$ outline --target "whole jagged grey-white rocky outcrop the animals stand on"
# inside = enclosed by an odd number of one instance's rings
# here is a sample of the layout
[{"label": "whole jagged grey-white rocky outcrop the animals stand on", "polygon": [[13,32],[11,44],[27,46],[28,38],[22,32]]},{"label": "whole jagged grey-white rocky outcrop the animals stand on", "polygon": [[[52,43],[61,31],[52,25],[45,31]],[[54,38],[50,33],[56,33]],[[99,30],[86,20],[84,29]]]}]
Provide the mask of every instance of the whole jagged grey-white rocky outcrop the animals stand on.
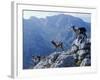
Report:
[{"label": "whole jagged grey-white rocky outcrop the animals stand on", "polygon": [[68,51],[54,52],[41,59],[33,66],[34,69],[57,68],[57,67],[78,67],[91,66],[91,42],[85,39],[80,42],[78,39],[73,41]]}]

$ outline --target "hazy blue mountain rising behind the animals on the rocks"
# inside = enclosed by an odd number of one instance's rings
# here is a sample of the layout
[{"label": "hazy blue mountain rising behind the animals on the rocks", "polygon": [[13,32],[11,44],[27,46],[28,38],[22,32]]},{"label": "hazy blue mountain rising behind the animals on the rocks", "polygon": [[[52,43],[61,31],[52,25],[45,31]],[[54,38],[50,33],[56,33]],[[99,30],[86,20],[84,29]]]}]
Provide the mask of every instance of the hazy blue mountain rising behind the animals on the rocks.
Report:
[{"label": "hazy blue mountain rising behind the animals on the rocks", "polygon": [[64,49],[67,50],[75,38],[70,30],[73,25],[85,27],[90,37],[90,23],[71,15],[60,14],[46,18],[23,19],[23,68],[29,67],[32,55],[47,56],[54,52],[51,40],[62,41]]}]

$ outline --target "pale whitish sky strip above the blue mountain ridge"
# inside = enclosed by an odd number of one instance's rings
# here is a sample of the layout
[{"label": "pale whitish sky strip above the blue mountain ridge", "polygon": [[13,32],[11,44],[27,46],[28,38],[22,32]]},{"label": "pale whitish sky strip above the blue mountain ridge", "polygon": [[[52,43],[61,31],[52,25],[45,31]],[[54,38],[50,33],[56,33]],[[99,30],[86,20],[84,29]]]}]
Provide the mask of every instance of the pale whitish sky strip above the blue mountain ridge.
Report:
[{"label": "pale whitish sky strip above the blue mountain ridge", "polygon": [[46,12],[46,11],[23,11],[24,19],[30,19],[32,16],[37,18],[46,18],[47,16],[54,16],[58,14],[72,15],[74,17],[79,17],[85,22],[91,22],[91,14],[89,13],[60,13],[60,12]]}]

